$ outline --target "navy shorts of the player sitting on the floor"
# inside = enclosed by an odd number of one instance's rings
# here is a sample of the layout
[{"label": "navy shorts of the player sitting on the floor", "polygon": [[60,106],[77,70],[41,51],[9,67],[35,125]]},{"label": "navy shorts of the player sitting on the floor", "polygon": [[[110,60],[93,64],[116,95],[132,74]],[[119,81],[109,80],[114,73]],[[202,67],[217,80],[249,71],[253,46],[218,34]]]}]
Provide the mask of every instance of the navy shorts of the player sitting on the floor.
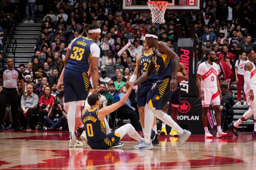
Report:
[{"label": "navy shorts of the player sitting on the floor", "polygon": [[88,140],[87,144],[92,149],[109,149],[112,147],[113,144],[119,141],[120,141],[120,135],[119,134],[115,135],[115,131],[113,131],[109,133],[105,139],[100,140],[98,142],[90,142]]}]

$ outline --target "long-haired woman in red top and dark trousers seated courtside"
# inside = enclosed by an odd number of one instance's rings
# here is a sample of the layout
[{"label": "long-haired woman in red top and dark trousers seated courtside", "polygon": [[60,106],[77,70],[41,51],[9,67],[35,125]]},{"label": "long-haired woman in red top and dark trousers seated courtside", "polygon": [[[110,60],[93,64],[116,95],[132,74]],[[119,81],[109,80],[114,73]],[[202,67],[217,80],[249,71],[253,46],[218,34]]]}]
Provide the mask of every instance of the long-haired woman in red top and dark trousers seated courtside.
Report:
[{"label": "long-haired woman in red top and dark trousers seated courtside", "polygon": [[40,97],[40,101],[39,101],[40,109],[38,111],[38,117],[39,117],[38,130],[42,130],[42,125],[44,123],[43,118],[44,116],[48,115],[50,107],[52,106],[53,98],[54,97],[51,95],[51,88],[49,86],[46,86],[44,88],[44,95]]}]

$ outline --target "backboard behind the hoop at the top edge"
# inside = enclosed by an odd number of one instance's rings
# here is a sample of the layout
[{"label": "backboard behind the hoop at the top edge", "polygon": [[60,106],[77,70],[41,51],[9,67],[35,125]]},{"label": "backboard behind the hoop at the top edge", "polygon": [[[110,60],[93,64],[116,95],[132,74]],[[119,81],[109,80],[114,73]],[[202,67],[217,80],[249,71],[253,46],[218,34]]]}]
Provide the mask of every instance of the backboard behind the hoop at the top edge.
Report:
[{"label": "backboard behind the hoop at the top edge", "polygon": [[[150,11],[147,2],[151,0],[121,0],[121,11]],[[203,9],[203,0],[164,0],[168,1],[167,12],[195,12]]]}]

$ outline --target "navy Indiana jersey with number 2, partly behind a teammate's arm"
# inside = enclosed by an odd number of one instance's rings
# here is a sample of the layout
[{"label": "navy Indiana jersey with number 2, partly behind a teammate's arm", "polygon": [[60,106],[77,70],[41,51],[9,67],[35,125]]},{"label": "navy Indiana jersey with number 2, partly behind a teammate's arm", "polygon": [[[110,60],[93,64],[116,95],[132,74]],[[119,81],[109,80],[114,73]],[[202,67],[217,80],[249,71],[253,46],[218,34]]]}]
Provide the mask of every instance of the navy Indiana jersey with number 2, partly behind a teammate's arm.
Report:
[{"label": "navy Indiana jersey with number 2, partly behind a teammate's arm", "polygon": [[[140,55],[140,76],[147,71],[151,54],[152,53],[146,55],[144,52]],[[152,72],[151,76],[147,80],[148,81],[157,80],[156,69]]]}]

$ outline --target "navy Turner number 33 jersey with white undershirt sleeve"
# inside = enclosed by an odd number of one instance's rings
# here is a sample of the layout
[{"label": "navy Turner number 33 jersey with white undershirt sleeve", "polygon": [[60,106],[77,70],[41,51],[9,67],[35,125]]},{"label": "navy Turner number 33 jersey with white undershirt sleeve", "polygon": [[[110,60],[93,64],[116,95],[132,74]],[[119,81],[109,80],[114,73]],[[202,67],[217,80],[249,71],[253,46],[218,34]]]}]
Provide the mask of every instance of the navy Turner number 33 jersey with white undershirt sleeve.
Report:
[{"label": "navy Turner number 33 jersey with white undershirt sleeve", "polygon": [[75,38],[68,49],[71,50],[66,68],[79,72],[88,72],[92,57],[100,57],[100,48],[92,40],[86,37]]}]

